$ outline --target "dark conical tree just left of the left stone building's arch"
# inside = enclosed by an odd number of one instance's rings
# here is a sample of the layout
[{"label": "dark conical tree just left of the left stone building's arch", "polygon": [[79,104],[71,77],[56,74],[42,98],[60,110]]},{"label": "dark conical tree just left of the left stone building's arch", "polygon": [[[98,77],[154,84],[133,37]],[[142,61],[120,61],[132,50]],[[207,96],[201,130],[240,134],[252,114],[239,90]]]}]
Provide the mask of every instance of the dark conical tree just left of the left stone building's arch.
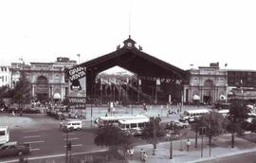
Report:
[{"label": "dark conical tree just left of the left stone building's arch", "polygon": [[27,80],[26,74],[22,72],[13,90],[13,101],[19,103],[19,105],[29,103],[31,99],[30,90],[30,81]]}]

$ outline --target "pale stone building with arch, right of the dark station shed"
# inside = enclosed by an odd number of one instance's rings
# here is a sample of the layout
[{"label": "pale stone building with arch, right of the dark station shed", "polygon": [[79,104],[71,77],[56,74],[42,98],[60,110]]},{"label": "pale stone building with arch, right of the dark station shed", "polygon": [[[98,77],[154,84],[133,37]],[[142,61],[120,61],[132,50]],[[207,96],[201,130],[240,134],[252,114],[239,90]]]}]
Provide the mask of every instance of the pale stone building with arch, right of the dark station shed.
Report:
[{"label": "pale stone building with arch, right of the dark station shed", "polygon": [[220,69],[219,63],[190,69],[189,84],[184,85],[184,101],[212,104],[227,100],[228,72]]}]

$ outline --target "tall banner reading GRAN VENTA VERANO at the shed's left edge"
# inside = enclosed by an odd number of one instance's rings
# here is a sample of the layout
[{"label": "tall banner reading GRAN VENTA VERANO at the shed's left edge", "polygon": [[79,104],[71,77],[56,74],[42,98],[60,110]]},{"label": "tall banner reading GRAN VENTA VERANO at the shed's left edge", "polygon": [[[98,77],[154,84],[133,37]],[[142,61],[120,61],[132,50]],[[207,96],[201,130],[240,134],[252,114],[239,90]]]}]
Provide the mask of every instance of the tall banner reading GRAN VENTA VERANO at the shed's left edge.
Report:
[{"label": "tall banner reading GRAN VENTA VERANO at the shed's left edge", "polygon": [[68,70],[68,102],[75,109],[86,107],[86,67],[78,65]]}]

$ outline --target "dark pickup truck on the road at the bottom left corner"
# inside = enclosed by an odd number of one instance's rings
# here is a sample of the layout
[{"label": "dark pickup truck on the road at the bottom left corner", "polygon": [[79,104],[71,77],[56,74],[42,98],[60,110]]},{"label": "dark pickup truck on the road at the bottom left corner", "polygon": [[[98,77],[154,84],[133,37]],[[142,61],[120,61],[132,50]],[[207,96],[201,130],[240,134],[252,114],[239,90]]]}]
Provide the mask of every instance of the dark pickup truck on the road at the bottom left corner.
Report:
[{"label": "dark pickup truck on the road at the bottom left corner", "polygon": [[29,154],[30,144],[18,144],[16,141],[7,142],[0,146],[0,157],[9,155]]}]

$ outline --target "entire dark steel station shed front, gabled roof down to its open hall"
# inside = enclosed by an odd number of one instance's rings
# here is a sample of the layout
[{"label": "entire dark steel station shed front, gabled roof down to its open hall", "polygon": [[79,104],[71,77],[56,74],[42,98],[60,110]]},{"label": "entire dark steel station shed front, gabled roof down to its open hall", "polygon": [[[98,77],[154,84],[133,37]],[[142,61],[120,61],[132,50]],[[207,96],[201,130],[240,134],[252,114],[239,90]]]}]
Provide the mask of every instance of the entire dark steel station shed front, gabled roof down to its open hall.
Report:
[{"label": "entire dark steel station shed front, gabled roof down to its open hall", "polygon": [[[105,95],[108,97],[106,100],[122,99],[122,102],[129,100],[129,103],[146,101],[166,104],[170,96],[172,102],[180,102],[187,72],[143,52],[142,47],[137,48],[130,37],[123,44],[112,53],[81,64],[86,67],[87,101],[102,101]],[[136,78],[97,79],[99,73],[114,66],[132,72]]]}]

